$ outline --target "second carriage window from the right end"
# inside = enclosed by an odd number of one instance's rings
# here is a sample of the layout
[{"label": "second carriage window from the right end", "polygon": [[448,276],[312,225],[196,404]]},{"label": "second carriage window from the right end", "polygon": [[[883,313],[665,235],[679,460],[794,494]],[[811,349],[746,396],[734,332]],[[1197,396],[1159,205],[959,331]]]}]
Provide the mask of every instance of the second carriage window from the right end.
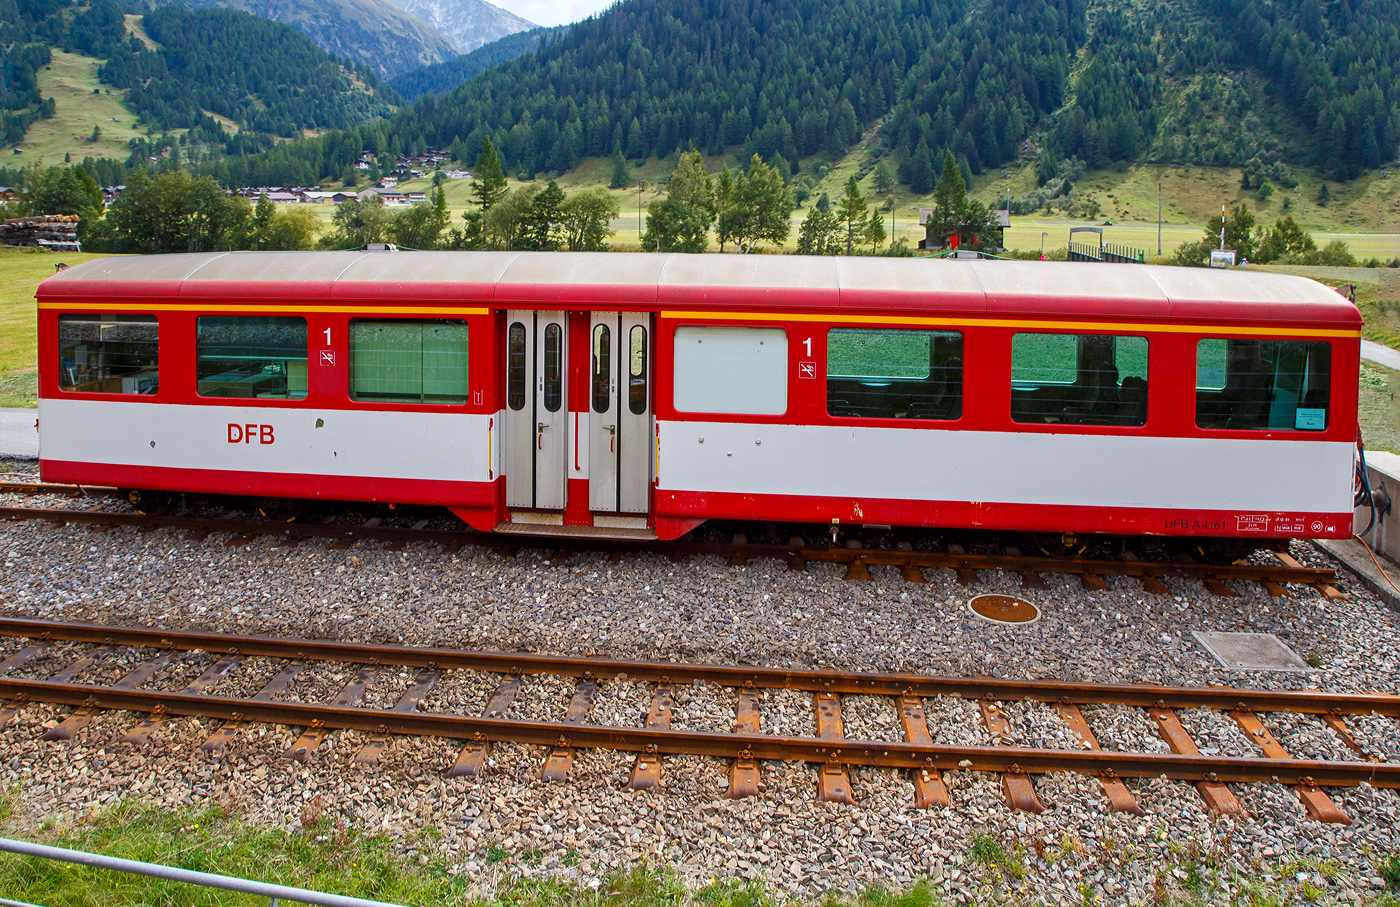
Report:
[{"label": "second carriage window from the right end", "polygon": [[1011,419],[1061,426],[1147,423],[1147,337],[1018,333]]}]

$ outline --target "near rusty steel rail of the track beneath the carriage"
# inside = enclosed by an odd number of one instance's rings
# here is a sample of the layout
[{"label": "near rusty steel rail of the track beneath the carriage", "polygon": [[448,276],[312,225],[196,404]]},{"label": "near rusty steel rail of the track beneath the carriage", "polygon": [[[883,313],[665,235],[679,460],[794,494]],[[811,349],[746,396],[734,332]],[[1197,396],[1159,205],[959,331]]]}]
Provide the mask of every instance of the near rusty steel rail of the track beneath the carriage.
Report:
[{"label": "near rusty steel rail of the track beneath the carriage", "polygon": [[1337,571],[1315,567],[1261,567],[1257,564],[1189,564],[1162,561],[1092,560],[1035,557],[1025,554],[952,554],[945,551],[889,551],[881,549],[809,549],[784,544],[724,544],[717,542],[637,543],[610,539],[521,537],[501,536],[476,529],[413,529],[400,526],[349,526],[333,523],[280,523],[256,519],[207,516],[158,516],[134,512],[48,509],[0,507],[0,519],[42,519],[57,523],[155,526],[199,532],[231,532],[248,536],[286,536],[294,539],[370,539],[381,542],[434,542],[438,544],[473,544],[497,549],[543,547],[564,551],[665,551],[672,556],[713,554],[717,557],[770,557],[788,563],[862,563],[874,565],[911,565],[949,570],[1009,570],[1012,572],[1098,574],[1126,577],[1186,577],[1197,579],[1238,579],[1245,582],[1296,582],[1326,585],[1337,581]]}]

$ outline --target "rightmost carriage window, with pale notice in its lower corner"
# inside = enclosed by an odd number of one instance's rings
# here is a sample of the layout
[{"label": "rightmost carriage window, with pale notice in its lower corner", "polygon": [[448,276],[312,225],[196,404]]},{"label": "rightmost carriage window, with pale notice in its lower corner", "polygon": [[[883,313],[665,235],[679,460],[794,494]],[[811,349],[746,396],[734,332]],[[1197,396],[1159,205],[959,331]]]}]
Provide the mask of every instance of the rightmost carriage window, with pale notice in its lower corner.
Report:
[{"label": "rightmost carriage window, with pale notice in its lower corner", "polygon": [[1201,428],[1323,431],[1330,391],[1326,342],[1219,337],[1196,346]]}]

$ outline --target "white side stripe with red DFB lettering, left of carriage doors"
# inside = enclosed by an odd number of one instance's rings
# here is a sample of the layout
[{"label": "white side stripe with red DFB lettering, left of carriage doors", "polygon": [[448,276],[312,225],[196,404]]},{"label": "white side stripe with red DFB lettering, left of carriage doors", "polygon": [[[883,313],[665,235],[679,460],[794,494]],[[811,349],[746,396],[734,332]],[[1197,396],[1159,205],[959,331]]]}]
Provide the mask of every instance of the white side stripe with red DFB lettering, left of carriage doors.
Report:
[{"label": "white side stripe with red DFB lettering, left of carriage doors", "polygon": [[[493,431],[493,416],[498,431],[498,413],[46,398],[39,400],[39,456],[165,469],[490,481],[493,452],[482,438]],[[493,437],[498,458],[500,435]]]}]

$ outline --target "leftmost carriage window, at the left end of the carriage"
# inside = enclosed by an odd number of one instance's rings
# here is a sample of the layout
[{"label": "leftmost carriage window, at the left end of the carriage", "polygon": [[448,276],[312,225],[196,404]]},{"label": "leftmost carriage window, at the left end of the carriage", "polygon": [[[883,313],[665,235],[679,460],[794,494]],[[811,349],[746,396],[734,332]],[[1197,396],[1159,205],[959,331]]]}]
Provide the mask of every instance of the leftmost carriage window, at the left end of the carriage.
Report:
[{"label": "leftmost carriage window, at the left end of the carriage", "polygon": [[154,315],[59,315],[59,388],[78,393],[155,393]]}]

